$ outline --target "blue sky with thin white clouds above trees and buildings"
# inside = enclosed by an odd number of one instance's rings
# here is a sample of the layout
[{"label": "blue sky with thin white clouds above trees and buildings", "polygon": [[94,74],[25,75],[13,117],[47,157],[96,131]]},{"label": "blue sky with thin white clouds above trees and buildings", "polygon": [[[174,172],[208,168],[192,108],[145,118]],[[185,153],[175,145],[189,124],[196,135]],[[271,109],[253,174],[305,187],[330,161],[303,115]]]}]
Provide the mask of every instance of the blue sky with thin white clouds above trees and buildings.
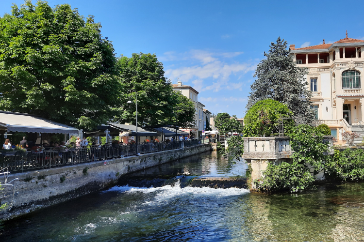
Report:
[{"label": "blue sky with thin white clouds above trees and buildings", "polygon": [[[0,0],[0,15],[23,0]],[[36,1],[33,0],[33,4]],[[212,113],[244,117],[256,65],[279,36],[296,48],[364,39],[360,7],[343,1],[49,0],[94,15],[116,56],[156,53],[165,76],[199,91]],[[352,8],[349,11],[349,8]]]}]

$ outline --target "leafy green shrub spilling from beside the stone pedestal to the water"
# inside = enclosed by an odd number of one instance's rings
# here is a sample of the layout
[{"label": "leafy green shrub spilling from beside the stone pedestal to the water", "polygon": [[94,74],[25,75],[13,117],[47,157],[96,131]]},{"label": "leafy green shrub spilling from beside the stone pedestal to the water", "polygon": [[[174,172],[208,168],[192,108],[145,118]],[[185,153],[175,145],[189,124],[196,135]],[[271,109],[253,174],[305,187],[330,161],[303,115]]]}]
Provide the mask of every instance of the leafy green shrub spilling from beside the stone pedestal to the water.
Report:
[{"label": "leafy green shrub spilling from beside the stone pedestal to the water", "polygon": [[325,161],[330,160],[328,144],[323,143],[322,133],[309,125],[301,124],[291,127],[288,131],[291,149],[291,162],[281,162],[279,165],[269,163],[263,171],[264,178],[254,181],[256,187],[262,191],[289,190],[299,192],[314,188],[314,176],[309,167],[314,168],[314,174],[323,168]]}]

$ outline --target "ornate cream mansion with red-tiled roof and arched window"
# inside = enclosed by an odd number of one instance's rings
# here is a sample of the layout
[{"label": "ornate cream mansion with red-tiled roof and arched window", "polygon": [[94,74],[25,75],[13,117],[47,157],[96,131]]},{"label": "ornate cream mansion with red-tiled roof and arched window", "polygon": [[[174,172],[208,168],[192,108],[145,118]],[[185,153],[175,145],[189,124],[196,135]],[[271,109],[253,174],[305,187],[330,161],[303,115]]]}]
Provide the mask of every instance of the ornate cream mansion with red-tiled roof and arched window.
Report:
[{"label": "ornate cream mansion with red-tiled roof and arched window", "polygon": [[[345,131],[364,127],[364,40],[347,37],[333,44],[295,48],[291,55],[298,67],[307,67],[316,123],[326,123],[339,141]],[[363,132],[364,133],[364,132]]]}]

